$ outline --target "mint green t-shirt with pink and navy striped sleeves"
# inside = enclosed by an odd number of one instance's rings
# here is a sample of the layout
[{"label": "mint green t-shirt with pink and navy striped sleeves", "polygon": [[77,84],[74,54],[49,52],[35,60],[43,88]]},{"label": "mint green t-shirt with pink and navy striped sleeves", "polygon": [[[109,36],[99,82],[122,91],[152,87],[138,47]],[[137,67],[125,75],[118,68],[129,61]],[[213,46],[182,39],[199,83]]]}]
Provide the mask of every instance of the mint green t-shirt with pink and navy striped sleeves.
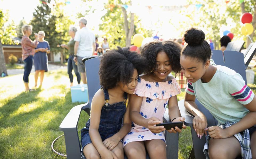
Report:
[{"label": "mint green t-shirt with pink and navy striped sleeves", "polygon": [[[211,64],[215,65],[213,60]],[[188,81],[186,93],[195,95],[219,124],[239,122],[249,112],[243,105],[253,100],[254,93],[240,74],[225,66],[216,66],[217,71],[210,82]]]}]

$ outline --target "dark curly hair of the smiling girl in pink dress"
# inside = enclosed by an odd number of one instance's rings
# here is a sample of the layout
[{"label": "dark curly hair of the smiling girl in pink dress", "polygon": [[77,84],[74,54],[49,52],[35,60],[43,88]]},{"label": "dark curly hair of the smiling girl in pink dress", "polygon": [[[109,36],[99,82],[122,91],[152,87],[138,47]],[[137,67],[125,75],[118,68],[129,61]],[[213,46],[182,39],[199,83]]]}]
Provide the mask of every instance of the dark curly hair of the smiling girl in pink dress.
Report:
[{"label": "dark curly hair of the smiling girl in pink dress", "polygon": [[153,41],[146,44],[141,49],[141,55],[146,58],[148,64],[146,73],[149,74],[152,70],[157,69],[156,58],[157,54],[161,51],[165,52],[170,58],[172,71],[179,73],[181,71],[181,65],[179,64],[179,58],[181,56],[181,46],[174,41]]}]

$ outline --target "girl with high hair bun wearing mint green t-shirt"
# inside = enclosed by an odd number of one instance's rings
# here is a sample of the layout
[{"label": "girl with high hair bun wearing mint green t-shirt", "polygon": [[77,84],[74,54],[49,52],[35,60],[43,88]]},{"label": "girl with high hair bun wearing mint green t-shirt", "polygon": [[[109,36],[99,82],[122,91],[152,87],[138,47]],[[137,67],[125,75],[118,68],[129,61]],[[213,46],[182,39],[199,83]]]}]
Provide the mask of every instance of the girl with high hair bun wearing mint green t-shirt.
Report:
[{"label": "girl with high hair bun wearing mint green t-shirt", "polygon": [[[181,70],[188,80],[185,108],[195,117],[193,128],[201,139],[208,131],[207,158],[256,158],[256,97],[242,76],[215,65],[210,45],[201,30],[186,31],[187,45],[181,53]],[[206,116],[195,98],[218,120],[207,127]]]}]

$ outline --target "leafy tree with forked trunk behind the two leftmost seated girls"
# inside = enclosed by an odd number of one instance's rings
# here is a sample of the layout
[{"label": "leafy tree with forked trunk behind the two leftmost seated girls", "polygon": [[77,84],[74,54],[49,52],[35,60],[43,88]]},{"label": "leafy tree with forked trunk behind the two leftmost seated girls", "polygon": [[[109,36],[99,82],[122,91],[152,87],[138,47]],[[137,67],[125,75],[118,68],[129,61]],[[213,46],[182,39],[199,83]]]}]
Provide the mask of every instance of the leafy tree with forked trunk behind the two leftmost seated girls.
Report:
[{"label": "leafy tree with forked trunk behind the two leftmost seated girls", "polygon": [[[121,0],[109,0],[105,5],[107,12],[101,17],[102,24],[99,28],[105,32],[110,48],[116,46],[129,47],[131,37],[136,33],[143,34],[144,37],[151,36],[149,32],[141,27],[138,16],[134,13],[127,13],[127,10],[122,6],[125,4]],[[131,3],[126,5],[131,5]]]}]

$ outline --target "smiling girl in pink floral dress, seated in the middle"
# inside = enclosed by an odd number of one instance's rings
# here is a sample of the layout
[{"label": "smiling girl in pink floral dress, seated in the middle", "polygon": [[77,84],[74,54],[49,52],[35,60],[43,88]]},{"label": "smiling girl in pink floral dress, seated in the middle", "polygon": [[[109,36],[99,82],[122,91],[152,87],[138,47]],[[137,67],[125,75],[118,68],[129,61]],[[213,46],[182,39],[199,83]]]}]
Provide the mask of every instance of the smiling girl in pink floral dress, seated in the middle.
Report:
[{"label": "smiling girl in pink floral dress, seated in the middle", "polygon": [[[141,55],[148,64],[146,74],[138,77],[138,85],[131,94],[130,118],[133,121],[130,132],[123,139],[128,158],[166,158],[166,143],[163,115],[169,107],[172,122],[184,121],[181,117],[176,95],[181,93],[176,79],[169,75],[180,72],[181,46],[173,41],[154,41],[146,44]],[[183,128],[186,128],[183,125]],[[168,130],[181,132],[178,127]]]}]

